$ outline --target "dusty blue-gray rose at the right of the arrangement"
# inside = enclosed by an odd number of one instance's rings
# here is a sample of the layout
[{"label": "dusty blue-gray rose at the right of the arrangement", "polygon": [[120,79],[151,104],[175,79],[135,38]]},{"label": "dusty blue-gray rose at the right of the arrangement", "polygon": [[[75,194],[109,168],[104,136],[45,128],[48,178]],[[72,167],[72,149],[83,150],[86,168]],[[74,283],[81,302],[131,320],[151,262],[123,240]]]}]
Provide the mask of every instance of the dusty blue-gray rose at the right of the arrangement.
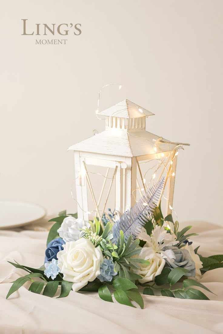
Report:
[{"label": "dusty blue-gray rose at the right of the arrangement", "polygon": [[173,259],[172,262],[169,259],[165,259],[167,266],[170,268],[181,267],[188,269],[190,271],[186,273],[185,276],[195,277],[196,274],[195,262],[192,259],[190,253],[187,251],[187,249],[180,249],[175,246],[166,246],[163,248],[163,251],[166,251],[167,249],[171,249],[176,257],[176,259]]}]

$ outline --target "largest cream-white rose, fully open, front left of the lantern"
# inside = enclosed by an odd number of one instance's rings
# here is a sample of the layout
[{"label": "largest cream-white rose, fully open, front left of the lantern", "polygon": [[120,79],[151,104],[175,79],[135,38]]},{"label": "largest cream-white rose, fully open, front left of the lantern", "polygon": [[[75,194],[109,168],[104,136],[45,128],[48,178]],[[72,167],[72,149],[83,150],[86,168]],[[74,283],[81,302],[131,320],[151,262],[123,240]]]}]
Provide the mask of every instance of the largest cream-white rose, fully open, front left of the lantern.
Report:
[{"label": "largest cream-white rose, fully open, front left of the lantern", "polygon": [[74,282],[74,291],[80,290],[100,275],[103,255],[101,249],[95,248],[89,239],[66,242],[64,251],[58,252],[57,257],[64,280]]}]

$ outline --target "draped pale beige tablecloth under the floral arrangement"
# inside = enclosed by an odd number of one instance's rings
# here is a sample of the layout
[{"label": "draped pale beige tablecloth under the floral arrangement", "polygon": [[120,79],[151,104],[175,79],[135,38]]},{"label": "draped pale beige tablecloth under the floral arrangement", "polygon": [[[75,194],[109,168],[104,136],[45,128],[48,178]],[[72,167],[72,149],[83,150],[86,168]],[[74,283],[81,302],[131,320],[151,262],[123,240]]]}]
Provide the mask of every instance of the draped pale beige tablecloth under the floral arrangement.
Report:
[{"label": "draped pale beige tablecloth under the floral arrangement", "polygon": [[[186,224],[182,224],[181,227]],[[194,225],[194,247],[203,256],[223,254],[223,228],[205,222]],[[25,274],[6,261],[40,267],[47,232],[0,231],[0,333],[223,333],[223,268],[207,272],[201,279],[216,295],[210,301],[143,296],[145,309],[108,303],[97,294],[75,293],[55,299],[31,293],[29,284],[5,299],[10,282]]]}]

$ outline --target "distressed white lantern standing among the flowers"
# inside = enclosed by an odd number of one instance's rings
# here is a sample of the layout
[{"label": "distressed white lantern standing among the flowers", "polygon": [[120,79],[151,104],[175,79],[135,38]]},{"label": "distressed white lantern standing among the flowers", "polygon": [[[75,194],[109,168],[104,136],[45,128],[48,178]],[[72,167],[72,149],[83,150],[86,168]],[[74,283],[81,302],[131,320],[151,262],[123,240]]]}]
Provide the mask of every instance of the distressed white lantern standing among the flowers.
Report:
[{"label": "distressed white lantern standing among the flowers", "polygon": [[[146,118],[151,115],[154,114],[124,100],[98,114],[106,117],[105,131],[69,148],[75,154],[79,218],[88,221],[90,212],[100,220],[103,213],[108,216],[107,205],[112,207],[111,196],[113,207],[123,214],[161,176],[165,176],[166,214],[172,212],[177,155],[183,145],[189,144],[171,142],[146,131]],[[90,178],[90,166],[106,168],[98,199]],[[106,184],[108,189],[105,191]],[[103,192],[106,196],[102,201]],[[89,207],[89,196],[94,208]]]}]

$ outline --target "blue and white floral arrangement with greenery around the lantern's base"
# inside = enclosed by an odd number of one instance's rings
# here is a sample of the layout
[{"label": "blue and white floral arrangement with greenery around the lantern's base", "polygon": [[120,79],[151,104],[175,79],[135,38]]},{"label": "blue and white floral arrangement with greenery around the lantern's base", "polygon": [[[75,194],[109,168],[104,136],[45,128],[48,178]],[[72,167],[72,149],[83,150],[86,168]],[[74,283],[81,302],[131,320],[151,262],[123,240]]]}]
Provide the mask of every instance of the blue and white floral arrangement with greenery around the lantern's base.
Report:
[{"label": "blue and white floral arrangement with greenery around the lantern's base", "polygon": [[154,292],[208,300],[196,287],[211,291],[198,280],[204,272],[223,267],[223,255],[202,257],[199,247],[194,249],[189,241],[197,235],[187,234],[192,226],[179,230],[172,215],[163,217],[158,205],[163,186],[161,179],[117,221],[111,210],[110,219],[104,216],[101,223],[97,218],[85,222],[77,214],[60,212],[50,220],[54,224],[44,265],[35,269],[10,262],[28,274],[13,282],[6,298],[29,281],[29,291],[48,297],[57,292],[57,298],[66,297],[71,290],[98,291],[105,301],[114,298],[131,307],[134,301],[143,308],[142,295]]}]

